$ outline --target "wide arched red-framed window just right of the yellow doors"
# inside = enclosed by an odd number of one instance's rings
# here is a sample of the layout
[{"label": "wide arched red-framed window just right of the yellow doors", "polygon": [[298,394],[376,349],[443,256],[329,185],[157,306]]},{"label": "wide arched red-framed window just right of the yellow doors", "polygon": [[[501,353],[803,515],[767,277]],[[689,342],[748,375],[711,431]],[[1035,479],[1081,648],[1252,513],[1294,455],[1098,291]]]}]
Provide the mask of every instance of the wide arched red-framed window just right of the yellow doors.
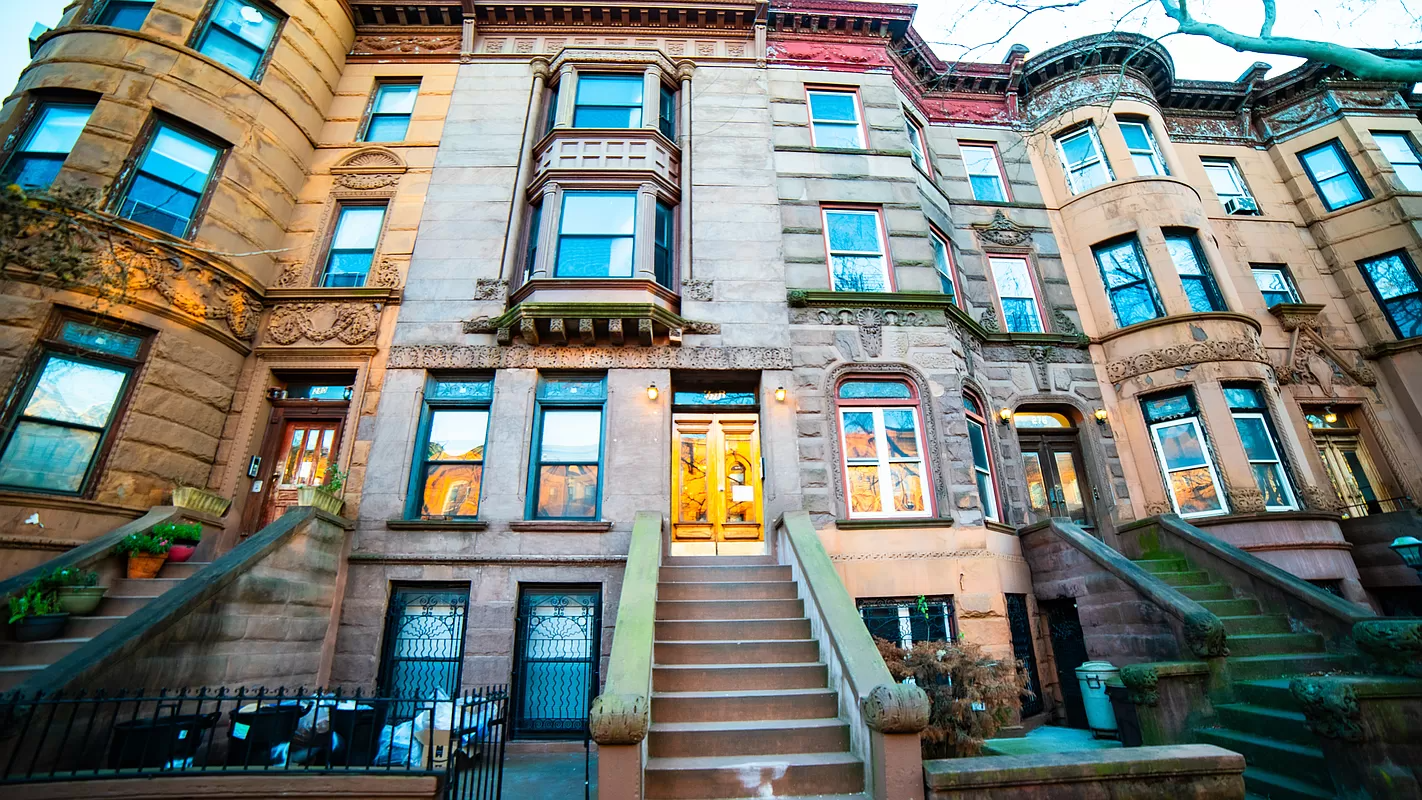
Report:
[{"label": "wide arched red-framed window just right of the yellow doors", "polygon": [[904,381],[849,379],[838,398],[850,519],[931,516],[917,392]]}]

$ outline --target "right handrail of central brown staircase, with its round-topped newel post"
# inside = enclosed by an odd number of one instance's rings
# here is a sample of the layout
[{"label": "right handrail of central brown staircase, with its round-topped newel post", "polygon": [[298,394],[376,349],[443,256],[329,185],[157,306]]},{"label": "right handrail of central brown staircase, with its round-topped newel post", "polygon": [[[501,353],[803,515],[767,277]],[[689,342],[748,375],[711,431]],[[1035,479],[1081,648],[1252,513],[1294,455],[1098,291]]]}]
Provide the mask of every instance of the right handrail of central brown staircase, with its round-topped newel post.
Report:
[{"label": "right handrail of central brown staircase, with its round-topped newel post", "polygon": [[786,512],[775,531],[778,560],[795,575],[830,688],[839,689],[849,718],[850,747],[865,759],[870,794],[921,797],[919,732],[929,725],[929,696],[889,674],[809,514]]}]

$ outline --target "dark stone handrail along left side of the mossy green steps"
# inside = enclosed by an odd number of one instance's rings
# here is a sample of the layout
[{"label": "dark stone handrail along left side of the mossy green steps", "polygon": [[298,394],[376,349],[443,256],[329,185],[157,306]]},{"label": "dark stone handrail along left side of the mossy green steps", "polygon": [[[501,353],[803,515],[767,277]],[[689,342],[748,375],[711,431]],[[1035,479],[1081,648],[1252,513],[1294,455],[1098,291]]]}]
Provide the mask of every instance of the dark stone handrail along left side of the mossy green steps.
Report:
[{"label": "dark stone handrail along left side of the mossy green steps", "polygon": [[1199,602],[1190,600],[1177,588],[1143,567],[1112,550],[1106,543],[1091,536],[1079,526],[1065,520],[1049,520],[1027,526],[1018,536],[1047,530],[1086,556],[1103,570],[1135,590],[1140,597],[1180,622],[1185,644],[1197,658],[1220,658],[1229,655],[1224,638],[1224,622]]}]

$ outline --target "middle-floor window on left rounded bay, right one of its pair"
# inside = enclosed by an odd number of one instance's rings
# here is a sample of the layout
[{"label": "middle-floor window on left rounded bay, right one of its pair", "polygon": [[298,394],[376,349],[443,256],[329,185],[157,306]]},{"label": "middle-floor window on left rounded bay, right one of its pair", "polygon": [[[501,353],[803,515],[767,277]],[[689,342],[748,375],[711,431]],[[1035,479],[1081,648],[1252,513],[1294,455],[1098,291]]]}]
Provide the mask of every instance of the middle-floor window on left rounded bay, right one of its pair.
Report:
[{"label": "middle-floor window on left rounded bay, right one of its pair", "polygon": [[154,128],[118,216],[186,239],[222,151],[168,124]]}]

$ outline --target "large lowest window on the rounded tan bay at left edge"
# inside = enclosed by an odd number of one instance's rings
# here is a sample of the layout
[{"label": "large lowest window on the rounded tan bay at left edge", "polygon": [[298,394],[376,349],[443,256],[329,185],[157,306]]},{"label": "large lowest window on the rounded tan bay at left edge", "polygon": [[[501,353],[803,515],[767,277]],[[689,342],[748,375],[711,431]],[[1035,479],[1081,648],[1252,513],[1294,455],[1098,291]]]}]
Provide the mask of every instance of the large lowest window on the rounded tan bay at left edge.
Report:
[{"label": "large lowest window on the rounded tan bay at left edge", "polygon": [[61,317],[20,379],[0,449],[0,486],[81,494],[142,362],[146,337],[91,315]]}]

